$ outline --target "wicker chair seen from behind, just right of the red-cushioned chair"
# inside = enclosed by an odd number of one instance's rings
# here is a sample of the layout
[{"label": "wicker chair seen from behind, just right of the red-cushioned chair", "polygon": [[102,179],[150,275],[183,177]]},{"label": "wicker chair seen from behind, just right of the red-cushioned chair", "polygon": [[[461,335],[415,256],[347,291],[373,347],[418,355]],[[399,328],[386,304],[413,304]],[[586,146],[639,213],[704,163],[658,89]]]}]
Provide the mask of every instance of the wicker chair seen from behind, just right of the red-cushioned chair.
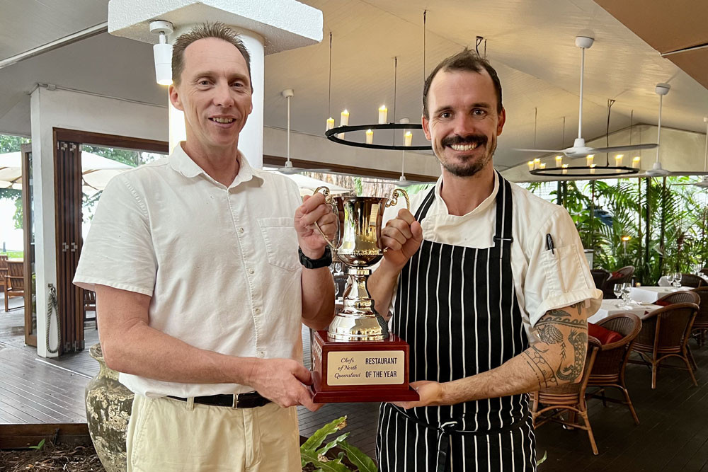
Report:
[{"label": "wicker chair seen from behind, just right of the red-cushioned chair", "polygon": [[[688,338],[698,310],[698,305],[695,303],[676,303],[652,311],[642,321],[641,330],[634,340],[632,350],[638,353],[644,362],[636,360],[629,362],[651,364],[651,388],[656,388],[658,365],[668,357],[678,357],[683,360],[693,384],[698,386],[687,350]],[[675,368],[681,369],[681,367]]]}]

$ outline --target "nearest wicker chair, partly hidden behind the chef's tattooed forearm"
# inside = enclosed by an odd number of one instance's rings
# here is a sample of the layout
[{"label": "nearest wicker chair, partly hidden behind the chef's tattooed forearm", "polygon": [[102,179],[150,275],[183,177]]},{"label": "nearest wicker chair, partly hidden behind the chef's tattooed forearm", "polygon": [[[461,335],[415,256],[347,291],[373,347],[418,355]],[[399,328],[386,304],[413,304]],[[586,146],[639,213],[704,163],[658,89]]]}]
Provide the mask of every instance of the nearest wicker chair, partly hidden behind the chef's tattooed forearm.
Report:
[{"label": "nearest wicker chair, partly hidden behind the chef's tattooed forearm", "polygon": [[[585,393],[588,388],[588,379],[590,372],[593,370],[595,357],[600,350],[600,341],[588,336],[588,355],[585,362],[585,370],[583,376],[576,384],[564,384],[557,387],[544,388],[541,391],[531,392],[531,418],[533,419],[534,427],[544,425],[549,421],[561,423],[569,427],[577,427],[588,432],[590,439],[590,447],[593,448],[593,454],[598,455],[598,445],[595,444],[593,436],[593,428],[590,427],[588,420],[588,405],[585,401]],[[539,409],[540,408],[540,409]],[[568,421],[564,420],[561,414],[564,410],[571,412]],[[544,413],[549,413],[544,415]],[[573,418],[580,415],[582,422],[574,422]]]}]

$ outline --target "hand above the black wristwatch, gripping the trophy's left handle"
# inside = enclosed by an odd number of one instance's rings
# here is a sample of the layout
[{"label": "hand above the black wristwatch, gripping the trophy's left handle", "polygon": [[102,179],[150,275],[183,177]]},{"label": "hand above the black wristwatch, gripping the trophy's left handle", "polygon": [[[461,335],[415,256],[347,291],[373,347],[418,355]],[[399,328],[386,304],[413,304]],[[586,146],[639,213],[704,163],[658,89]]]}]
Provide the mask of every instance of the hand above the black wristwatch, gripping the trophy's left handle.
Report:
[{"label": "hand above the black wristwatch, gripping the trophy's left handle", "polygon": [[319,234],[314,223],[330,241],[336,236],[337,221],[331,205],[324,202],[324,195],[316,193],[305,196],[302,205],[295,211],[295,231],[302,253],[311,259],[319,259],[324,254],[327,241]]}]

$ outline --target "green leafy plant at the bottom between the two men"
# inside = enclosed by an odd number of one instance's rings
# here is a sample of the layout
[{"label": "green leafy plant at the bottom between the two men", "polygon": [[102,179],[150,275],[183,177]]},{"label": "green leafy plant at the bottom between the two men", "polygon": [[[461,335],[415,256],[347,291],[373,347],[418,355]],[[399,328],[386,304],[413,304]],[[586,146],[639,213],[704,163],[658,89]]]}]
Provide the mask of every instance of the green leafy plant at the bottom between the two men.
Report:
[{"label": "green leafy plant at the bottom between the two men", "polygon": [[[357,447],[345,441],[349,436],[348,432],[340,434],[338,437],[322,446],[322,443],[328,436],[342,430],[346,425],[347,417],[342,416],[341,418],[327,423],[319,430],[316,430],[314,434],[300,446],[302,466],[312,464],[316,467],[316,472],[350,472],[352,470],[358,470],[359,472],[378,472],[379,469],[373,459],[364,454]],[[338,447],[342,449],[342,451],[335,459],[329,459],[325,454],[334,447]],[[343,464],[342,460],[345,455],[348,461],[355,466],[355,469],[349,468],[346,464]]]}]

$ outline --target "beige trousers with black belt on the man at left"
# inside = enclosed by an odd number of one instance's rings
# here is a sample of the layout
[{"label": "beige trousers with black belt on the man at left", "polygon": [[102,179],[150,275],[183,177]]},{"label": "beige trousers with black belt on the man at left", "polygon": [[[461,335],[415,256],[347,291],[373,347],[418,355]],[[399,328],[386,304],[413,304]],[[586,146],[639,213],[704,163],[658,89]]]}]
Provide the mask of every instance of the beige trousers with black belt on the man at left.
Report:
[{"label": "beige trousers with black belt on the man at left", "polygon": [[302,471],[297,409],[275,403],[235,409],[135,396],[127,472],[232,471]]}]

